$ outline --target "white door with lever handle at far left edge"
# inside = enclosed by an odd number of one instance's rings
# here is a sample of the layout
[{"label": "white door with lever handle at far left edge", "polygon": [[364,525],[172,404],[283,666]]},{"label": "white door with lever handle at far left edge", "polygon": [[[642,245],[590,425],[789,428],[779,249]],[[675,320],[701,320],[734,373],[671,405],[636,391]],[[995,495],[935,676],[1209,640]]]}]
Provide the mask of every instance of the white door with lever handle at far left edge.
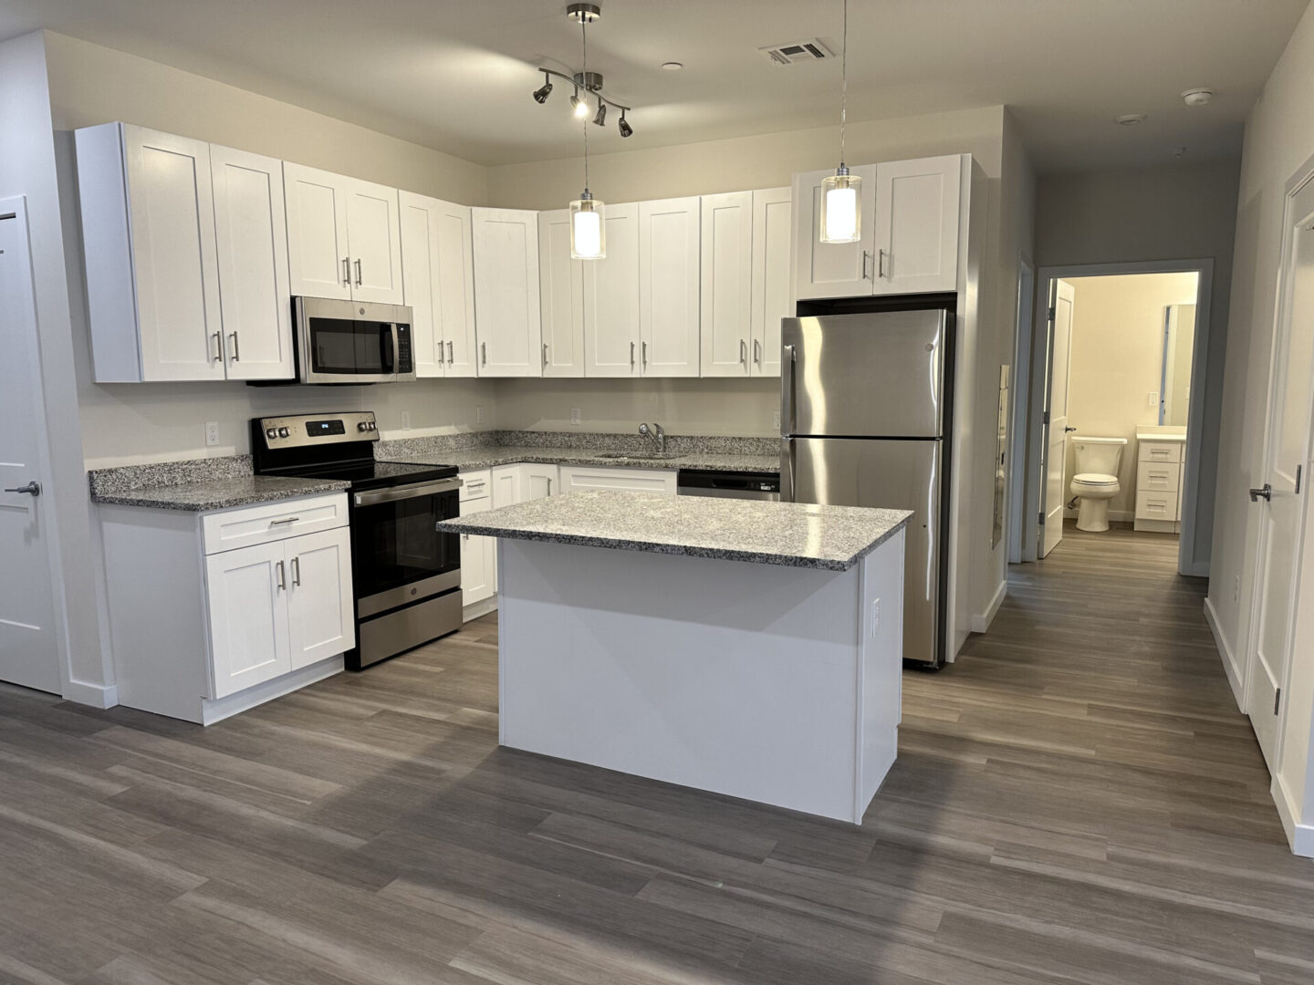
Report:
[{"label": "white door with lever handle at far left edge", "polygon": [[54,586],[38,441],[37,315],[21,200],[0,201],[0,680],[59,693]]}]

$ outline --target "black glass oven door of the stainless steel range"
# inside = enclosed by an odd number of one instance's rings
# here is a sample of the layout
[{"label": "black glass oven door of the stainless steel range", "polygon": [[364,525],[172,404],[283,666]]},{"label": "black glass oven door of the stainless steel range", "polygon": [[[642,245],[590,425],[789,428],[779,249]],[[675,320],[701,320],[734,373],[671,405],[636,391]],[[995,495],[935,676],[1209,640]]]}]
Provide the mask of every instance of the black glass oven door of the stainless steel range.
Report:
[{"label": "black glass oven door of the stainless steel range", "polygon": [[453,477],[352,495],[357,619],[460,587],[460,536],[435,529],[460,514],[460,485]]}]

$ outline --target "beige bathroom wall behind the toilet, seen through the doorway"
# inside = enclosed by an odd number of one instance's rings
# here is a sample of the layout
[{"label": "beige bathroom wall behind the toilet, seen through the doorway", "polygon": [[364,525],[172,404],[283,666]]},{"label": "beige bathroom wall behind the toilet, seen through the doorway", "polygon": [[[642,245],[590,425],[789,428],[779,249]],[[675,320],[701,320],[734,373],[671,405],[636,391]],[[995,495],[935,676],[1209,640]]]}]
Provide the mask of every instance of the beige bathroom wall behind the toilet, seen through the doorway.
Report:
[{"label": "beige bathroom wall behind the toilet, seen through the doorway", "polygon": [[[1125,437],[1118,482],[1109,503],[1116,520],[1135,514],[1137,428],[1159,423],[1163,319],[1168,305],[1196,301],[1194,273],[1138,273],[1121,277],[1068,277],[1072,285],[1072,348],[1068,368],[1068,424],[1076,435]],[[1063,495],[1076,473],[1068,443]]]}]

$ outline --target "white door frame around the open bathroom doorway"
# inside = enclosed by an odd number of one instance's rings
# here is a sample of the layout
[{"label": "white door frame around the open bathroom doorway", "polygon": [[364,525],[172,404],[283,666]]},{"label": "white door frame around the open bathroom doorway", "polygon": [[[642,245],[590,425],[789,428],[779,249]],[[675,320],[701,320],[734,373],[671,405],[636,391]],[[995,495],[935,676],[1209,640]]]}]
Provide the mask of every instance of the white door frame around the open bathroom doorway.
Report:
[{"label": "white door frame around the open bathroom doorway", "polygon": [[[1196,285],[1196,340],[1190,353],[1190,391],[1204,393],[1209,377],[1209,335],[1213,322],[1210,299],[1214,286],[1214,261],[1209,257],[1196,260],[1131,260],[1110,264],[1064,264],[1041,267],[1035,277],[1035,297],[1049,298],[1056,280],[1080,277],[1109,277],[1127,273],[1194,273]],[[1037,303],[1033,323],[1030,401],[1028,406],[1026,461],[1022,464],[1025,483],[1025,506],[1022,511],[1022,550],[1024,561],[1037,559],[1037,537],[1039,536],[1041,489],[1033,468],[1041,461],[1042,418],[1045,415],[1045,352],[1049,340],[1049,305]],[[1037,356],[1039,352],[1039,356]],[[1037,372],[1039,380],[1037,381]],[[1039,398],[1039,399],[1037,399]],[[1194,563],[1196,553],[1196,503],[1200,495],[1200,443],[1202,439],[1205,402],[1192,401],[1187,412],[1187,470],[1183,478],[1181,535],[1177,542],[1177,573],[1206,578],[1208,563]]]}]

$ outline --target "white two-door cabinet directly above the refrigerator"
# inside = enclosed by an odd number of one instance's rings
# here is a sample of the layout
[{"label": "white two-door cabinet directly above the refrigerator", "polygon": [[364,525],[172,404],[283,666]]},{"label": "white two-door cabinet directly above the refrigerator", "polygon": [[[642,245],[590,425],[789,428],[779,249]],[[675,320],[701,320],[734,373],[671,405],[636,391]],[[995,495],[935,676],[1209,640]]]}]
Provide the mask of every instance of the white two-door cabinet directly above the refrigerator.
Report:
[{"label": "white two-door cabinet directly above the refrigerator", "polygon": [[918,294],[958,289],[962,184],[970,158],[865,164],[862,238],[821,243],[821,183],[832,169],[794,176],[794,280],[798,297]]}]

